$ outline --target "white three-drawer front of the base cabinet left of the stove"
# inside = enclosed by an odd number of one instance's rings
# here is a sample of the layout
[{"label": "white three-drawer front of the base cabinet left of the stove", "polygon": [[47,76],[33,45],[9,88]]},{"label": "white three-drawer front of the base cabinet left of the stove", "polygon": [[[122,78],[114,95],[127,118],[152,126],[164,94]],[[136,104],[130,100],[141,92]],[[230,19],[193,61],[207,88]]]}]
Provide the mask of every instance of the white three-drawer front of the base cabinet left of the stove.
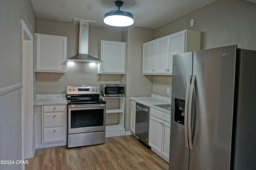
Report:
[{"label": "white three-drawer front of the base cabinet left of the stove", "polygon": [[65,142],[66,105],[42,106],[42,144]]}]

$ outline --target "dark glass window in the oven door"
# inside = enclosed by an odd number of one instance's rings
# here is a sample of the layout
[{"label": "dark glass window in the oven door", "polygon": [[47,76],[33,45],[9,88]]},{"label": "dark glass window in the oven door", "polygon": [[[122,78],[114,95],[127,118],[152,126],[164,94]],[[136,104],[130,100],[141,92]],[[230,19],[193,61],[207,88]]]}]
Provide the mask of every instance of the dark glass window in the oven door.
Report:
[{"label": "dark glass window in the oven door", "polygon": [[71,110],[71,128],[104,126],[104,109]]}]

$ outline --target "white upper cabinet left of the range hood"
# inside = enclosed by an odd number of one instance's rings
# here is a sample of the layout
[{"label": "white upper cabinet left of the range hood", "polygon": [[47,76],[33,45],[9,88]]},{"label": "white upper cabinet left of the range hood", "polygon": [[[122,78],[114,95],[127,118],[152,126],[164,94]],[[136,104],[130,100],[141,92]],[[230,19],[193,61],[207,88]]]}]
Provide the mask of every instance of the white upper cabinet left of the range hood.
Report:
[{"label": "white upper cabinet left of the range hood", "polygon": [[67,37],[35,34],[35,71],[66,72]]}]

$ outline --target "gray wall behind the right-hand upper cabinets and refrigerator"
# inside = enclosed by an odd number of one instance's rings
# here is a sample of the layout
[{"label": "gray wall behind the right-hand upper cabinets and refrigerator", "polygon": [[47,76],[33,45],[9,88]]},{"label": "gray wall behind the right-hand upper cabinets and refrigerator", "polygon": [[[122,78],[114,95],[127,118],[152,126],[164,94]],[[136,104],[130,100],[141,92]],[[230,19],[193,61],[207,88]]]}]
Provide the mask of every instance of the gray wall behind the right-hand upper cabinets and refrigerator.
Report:
[{"label": "gray wall behind the right-hand upper cabinets and refrigerator", "polygon": [[[192,27],[191,19],[194,19]],[[217,0],[156,28],[154,39],[185,29],[198,30],[201,31],[201,50],[233,44],[256,50],[255,21],[256,4],[244,0]],[[154,77],[153,93],[166,96],[166,88],[171,87],[171,82],[171,76]]]}]

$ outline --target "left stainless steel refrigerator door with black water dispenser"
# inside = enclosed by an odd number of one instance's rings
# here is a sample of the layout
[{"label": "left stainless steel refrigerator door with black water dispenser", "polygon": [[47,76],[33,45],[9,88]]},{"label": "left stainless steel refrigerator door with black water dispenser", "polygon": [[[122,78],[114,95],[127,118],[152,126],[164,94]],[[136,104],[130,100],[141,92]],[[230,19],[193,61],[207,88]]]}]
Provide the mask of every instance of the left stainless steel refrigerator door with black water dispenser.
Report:
[{"label": "left stainless steel refrigerator door with black water dispenser", "polygon": [[[184,122],[184,101],[188,77],[192,74],[193,52],[178,54],[173,56],[172,68],[172,114],[171,114],[171,133],[170,133],[170,160],[169,170],[188,170],[189,149],[186,147],[184,125],[182,121],[174,121],[174,116]],[[176,100],[175,100],[176,99]],[[175,104],[175,102],[178,102]],[[185,101],[186,102],[186,101]],[[180,123],[178,123],[180,122]]]}]

